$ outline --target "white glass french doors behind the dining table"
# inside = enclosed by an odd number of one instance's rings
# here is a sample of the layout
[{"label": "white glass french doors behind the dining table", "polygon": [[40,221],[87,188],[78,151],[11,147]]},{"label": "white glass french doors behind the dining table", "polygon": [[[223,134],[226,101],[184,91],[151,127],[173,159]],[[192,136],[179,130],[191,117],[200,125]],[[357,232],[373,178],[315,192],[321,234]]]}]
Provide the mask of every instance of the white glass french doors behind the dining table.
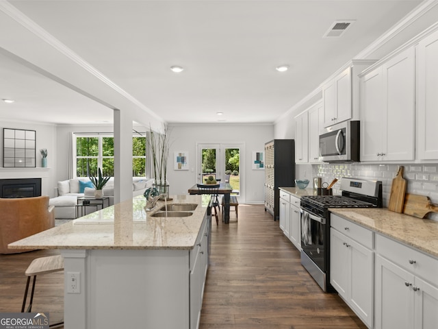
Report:
[{"label": "white glass french doors behind the dining table", "polygon": [[205,182],[211,175],[221,182],[229,182],[233,193],[243,198],[244,154],[243,143],[198,143],[198,183]]}]

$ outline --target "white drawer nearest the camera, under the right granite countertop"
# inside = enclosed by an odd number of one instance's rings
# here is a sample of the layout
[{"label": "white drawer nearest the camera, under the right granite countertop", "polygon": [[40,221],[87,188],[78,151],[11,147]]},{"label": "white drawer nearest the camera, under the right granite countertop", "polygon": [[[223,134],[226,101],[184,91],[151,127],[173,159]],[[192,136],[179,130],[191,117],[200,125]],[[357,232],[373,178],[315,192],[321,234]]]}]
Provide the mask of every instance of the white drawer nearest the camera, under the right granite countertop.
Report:
[{"label": "white drawer nearest the camera, under the right granite countertop", "polygon": [[438,285],[437,258],[380,234],[376,234],[376,252],[415,276],[420,276],[435,286]]}]

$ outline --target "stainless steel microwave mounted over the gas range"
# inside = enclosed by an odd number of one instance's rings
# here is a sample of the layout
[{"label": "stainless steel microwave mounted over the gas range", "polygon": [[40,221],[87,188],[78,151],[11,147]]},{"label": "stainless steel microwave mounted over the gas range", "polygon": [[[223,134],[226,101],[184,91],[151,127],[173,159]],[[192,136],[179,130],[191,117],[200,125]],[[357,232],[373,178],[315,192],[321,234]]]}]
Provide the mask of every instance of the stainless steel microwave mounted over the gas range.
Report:
[{"label": "stainless steel microwave mounted over the gas range", "polygon": [[320,131],[320,159],[359,162],[359,121],[344,121]]}]

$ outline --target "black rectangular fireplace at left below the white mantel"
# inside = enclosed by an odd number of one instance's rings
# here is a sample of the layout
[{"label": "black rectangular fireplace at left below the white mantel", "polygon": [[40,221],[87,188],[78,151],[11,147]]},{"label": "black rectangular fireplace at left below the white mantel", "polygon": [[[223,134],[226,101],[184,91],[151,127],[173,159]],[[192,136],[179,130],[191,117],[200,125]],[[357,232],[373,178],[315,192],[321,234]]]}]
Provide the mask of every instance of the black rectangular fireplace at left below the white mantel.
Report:
[{"label": "black rectangular fireplace at left below the white mantel", "polygon": [[0,197],[40,197],[41,178],[0,180]]}]

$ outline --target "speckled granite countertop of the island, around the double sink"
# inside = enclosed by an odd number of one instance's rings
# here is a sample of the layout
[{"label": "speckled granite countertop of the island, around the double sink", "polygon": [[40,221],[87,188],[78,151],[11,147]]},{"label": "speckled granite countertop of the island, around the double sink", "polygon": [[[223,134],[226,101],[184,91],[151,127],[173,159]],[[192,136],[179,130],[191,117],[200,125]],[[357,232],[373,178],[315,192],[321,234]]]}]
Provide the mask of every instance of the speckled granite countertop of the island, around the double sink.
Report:
[{"label": "speckled granite countertop of the island, around the double sink", "polygon": [[11,249],[192,249],[209,195],[170,195],[168,204],[198,204],[190,217],[151,217],[141,195],[20,241]]}]

